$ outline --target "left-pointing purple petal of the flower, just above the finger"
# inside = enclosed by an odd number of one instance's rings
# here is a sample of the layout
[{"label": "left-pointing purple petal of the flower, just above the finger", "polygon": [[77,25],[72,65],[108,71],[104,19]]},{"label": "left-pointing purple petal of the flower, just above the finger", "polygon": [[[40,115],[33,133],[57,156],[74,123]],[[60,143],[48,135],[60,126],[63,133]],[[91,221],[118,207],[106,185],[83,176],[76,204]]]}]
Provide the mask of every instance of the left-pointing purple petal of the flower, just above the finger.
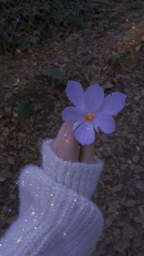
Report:
[{"label": "left-pointing purple petal of the flower, just above the finger", "polygon": [[72,107],[69,106],[62,111],[62,119],[65,122],[72,122],[72,121],[77,121],[79,119],[79,115],[83,115],[84,110],[77,108],[77,107]]}]

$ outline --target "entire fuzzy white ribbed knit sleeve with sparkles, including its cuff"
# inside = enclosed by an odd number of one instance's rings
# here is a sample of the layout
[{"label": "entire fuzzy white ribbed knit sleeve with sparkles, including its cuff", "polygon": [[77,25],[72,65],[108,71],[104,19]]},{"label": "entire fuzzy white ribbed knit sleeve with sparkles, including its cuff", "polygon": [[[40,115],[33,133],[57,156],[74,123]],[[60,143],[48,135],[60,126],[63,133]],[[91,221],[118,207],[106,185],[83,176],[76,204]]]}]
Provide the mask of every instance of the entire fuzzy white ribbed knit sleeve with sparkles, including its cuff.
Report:
[{"label": "entire fuzzy white ribbed knit sleeve with sparkles, including its cuff", "polygon": [[90,197],[104,161],[65,161],[52,141],[41,142],[41,167],[21,169],[19,214],[0,239],[0,256],[90,256],[96,249],[104,218]]}]

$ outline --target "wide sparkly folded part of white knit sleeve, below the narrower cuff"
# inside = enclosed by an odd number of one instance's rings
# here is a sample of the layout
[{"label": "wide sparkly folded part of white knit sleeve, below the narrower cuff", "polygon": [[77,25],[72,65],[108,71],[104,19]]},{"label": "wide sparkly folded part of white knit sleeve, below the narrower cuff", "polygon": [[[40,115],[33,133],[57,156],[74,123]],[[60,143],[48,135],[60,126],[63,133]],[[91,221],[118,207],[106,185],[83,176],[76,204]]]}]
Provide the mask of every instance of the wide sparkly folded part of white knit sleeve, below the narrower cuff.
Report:
[{"label": "wide sparkly folded part of white knit sleeve, below the narrower cuff", "polygon": [[32,164],[21,170],[18,183],[20,215],[0,240],[1,256],[92,254],[104,223],[93,202]]}]

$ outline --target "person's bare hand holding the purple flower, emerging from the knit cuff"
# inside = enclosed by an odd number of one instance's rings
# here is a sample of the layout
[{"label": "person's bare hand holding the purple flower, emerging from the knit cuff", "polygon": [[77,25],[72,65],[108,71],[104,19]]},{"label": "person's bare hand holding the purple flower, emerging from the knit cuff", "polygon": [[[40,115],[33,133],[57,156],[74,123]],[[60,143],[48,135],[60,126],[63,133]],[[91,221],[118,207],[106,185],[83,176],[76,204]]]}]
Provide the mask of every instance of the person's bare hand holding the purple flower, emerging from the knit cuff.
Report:
[{"label": "person's bare hand holding the purple flower, emerging from the knit cuff", "polygon": [[[117,114],[112,115],[115,119]],[[51,148],[59,158],[73,162],[95,163],[95,141],[89,145],[79,146],[79,142],[73,133],[74,122],[64,122],[52,141]],[[95,131],[96,134],[96,131]]]}]

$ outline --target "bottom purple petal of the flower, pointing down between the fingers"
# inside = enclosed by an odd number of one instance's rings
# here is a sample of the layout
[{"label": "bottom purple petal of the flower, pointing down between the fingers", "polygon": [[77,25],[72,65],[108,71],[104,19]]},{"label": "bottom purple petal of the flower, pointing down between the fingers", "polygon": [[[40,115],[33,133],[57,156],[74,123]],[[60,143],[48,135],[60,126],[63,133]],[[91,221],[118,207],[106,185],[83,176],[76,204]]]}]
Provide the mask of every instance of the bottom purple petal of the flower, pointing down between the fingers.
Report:
[{"label": "bottom purple petal of the flower, pointing down between the fingers", "polygon": [[76,137],[81,145],[92,144],[95,141],[95,131],[92,123],[82,123],[74,132],[74,137]]}]

